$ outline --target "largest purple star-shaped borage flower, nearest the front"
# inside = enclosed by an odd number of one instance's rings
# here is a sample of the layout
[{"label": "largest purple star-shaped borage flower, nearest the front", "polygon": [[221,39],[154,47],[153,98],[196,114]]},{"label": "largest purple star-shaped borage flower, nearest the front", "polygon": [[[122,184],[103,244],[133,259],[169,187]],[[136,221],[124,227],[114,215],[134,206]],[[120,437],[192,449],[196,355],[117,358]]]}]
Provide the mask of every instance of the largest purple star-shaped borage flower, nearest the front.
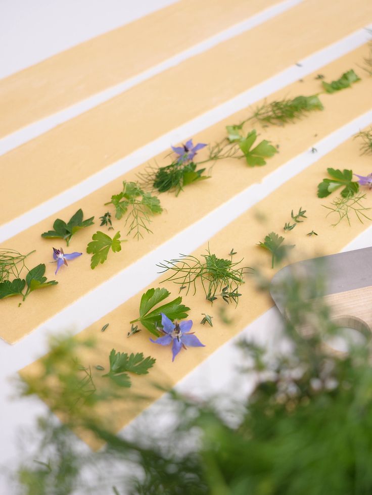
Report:
[{"label": "largest purple star-shaped borage flower, nearest the front", "polygon": [[172,323],[164,313],[160,314],[161,324],[163,325],[162,331],[165,335],[157,338],[156,340],[153,340],[152,338],[150,338],[150,340],[160,345],[169,345],[173,342],[172,361],[174,361],[174,358],[177,356],[182,347],[183,349],[187,349],[186,345],[190,345],[191,347],[205,347],[198,337],[189,332],[193,326],[192,320],[181,321],[180,323],[175,320],[174,323]]}]

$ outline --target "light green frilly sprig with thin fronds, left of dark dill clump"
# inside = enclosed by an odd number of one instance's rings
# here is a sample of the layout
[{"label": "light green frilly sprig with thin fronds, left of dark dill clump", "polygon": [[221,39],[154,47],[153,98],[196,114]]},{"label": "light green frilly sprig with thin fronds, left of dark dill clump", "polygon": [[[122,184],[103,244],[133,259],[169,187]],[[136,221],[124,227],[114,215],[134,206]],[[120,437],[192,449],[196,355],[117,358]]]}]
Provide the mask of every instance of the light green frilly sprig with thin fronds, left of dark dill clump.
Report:
[{"label": "light green frilly sprig with thin fronds, left of dark dill clump", "polygon": [[123,181],[123,190],[111,196],[105,205],[114,205],[115,218],[120,220],[124,215],[125,225],[129,226],[127,235],[134,232],[134,237],[143,237],[143,231],[152,233],[149,228],[151,217],[163,211],[157,196],[145,192],[137,182]]}]

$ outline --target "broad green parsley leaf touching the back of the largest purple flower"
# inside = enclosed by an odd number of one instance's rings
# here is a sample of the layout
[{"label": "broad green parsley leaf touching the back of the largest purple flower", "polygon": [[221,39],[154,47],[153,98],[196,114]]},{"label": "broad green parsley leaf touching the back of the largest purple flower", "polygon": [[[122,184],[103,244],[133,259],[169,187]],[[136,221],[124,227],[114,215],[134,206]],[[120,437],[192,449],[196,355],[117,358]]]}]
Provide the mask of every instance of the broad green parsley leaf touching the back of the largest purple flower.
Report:
[{"label": "broad green parsley leaf touching the back of the largest purple flower", "polygon": [[189,311],[190,308],[181,304],[181,297],[153,309],[156,305],[168,298],[169,295],[170,292],[165,288],[157,287],[156,289],[152,288],[147,290],[141,298],[140,318],[132,320],[129,323],[132,324],[139,321],[147,330],[149,330],[149,332],[158,337],[159,332],[156,328],[161,325],[160,313],[164,313],[170,320],[183,320],[184,318],[187,318],[187,311]]}]

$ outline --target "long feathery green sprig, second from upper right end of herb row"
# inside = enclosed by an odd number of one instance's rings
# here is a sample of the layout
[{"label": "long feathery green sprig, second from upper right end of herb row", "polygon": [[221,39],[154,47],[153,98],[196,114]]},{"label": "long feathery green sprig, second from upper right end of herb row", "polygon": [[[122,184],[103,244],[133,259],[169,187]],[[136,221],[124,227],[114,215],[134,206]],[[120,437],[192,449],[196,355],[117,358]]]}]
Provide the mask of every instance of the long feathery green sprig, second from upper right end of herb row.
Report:
[{"label": "long feathery green sprig, second from upper right end of herb row", "polygon": [[252,117],[261,124],[284,125],[300,119],[312,110],[323,110],[323,105],[317,94],[296,96],[293,100],[284,98],[283,100],[264,103],[256,108]]}]

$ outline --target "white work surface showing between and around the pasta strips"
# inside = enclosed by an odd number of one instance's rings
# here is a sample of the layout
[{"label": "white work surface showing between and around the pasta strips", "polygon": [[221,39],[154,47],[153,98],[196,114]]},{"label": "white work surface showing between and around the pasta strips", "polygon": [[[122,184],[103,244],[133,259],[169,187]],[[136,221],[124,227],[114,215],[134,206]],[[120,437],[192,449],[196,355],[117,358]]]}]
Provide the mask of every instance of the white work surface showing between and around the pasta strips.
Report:
[{"label": "white work surface showing between and around the pasta strips", "polygon": [[[284,2],[283,7],[287,8],[298,3],[298,1]],[[33,2],[29,2],[28,0],[2,0],[0,3],[0,78],[171,3],[173,2],[169,0],[142,0],[142,2],[129,2],[128,0],[106,0],[105,2],[102,2],[102,0],[65,0],[63,3],[56,0],[33,0]],[[275,12],[270,13],[268,10],[265,15],[269,17],[273,14]],[[263,16],[260,22],[264,20],[265,17]],[[245,29],[249,29],[248,24],[246,24]],[[234,35],[234,32],[238,33],[241,30],[242,26],[237,25],[229,30],[229,35]],[[265,94],[269,94],[291,83],[302,75],[316,70],[316,67],[321,67],[339,56],[339,53],[343,50],[349,51],[352,43],[357,46],[365,39],[365,33],[356,34],[347,40],[341,40],[340,43],[337,43],[336,47],[331,47],[329,50],[318,52],[314,56],[309,57],[307,63],[303,64],[302,68],[288,68],[283,73],[254,88],[254,91],[257,92],[256,98],[258,99],[262,95],[265,96]],[[199,46],[198,51],[206,50],[208,46],[208,43],[204,43],[204,48],[203,46]],[[190,51],[188,56],[192,55],[193,52]],[[166,65],[164,65],[163,69],[159,70],[165,69]],[[121,90],[125,90],[125,88],[121,88]],[[105,96],[105,98],[107,97],[110,97],[110,95]],[[241,95],[239,98],[234,98],[234,100],[227,102],[208,114],[198,117],[192,123],[185,124],[182,128],[176,129],[171,134],[162,136],[157,141],[150,143],[146,146],[146,151],[138,151],[138,153],[133,154],[134,156],[131,157],[131,160],[135,164],[142,163],[147,158],[165,149],[169,145],[169,142],[181,140],[191,132],[208,127],[226,115],[236,112],[239,108],[243,108],[247,105],[247,101],[251,97],[252,91],[249,95]],[[98,103],[100,103],[99,99],[89,105],[94,106]],[[82,111],[84,111],[83,107],[72,107],[64,111],[63,120],[67,120]],[[175,252],[178,252],[179,245],[182,245],[184,252],[193,251],[201,242],[207,240],[208,237],[228,224],[237,215],[259,201],[289,177],[293,176],[294,169],[299,172],[301,168],[308,166],[312,161],[318,160],[325,153],[337,146],[339,142],[357,132],[363,125],[371,123],[371,121],[372,116],[370,113],[366,114],[363,119],[358,119],[357,122],[351,123],[323,139],[316,145],[318,150],[316,156],[308,153],[296,157],[294,161],[297,163],[297,167],[282,167],[280,174],[270,175],[262,184],[252,189],[249,194],[245,191],[244,194],[237,196],[224,205],[223,208],[213,212],[208,218],[194,224],[187,231],[181,232],[162,245],[158,250],[124,270],[125,273],[121,273],[120,276],[114,277],[114,279],[106,282],[97,290],[87,294],[76,304],[67,308],[57,315],[57,317],[46,322],[31,335],[26,336],[13,346],[1,340],[0,411],[2,427],[0,429],[0,465],[6,466],[7,469],[17,466],[18,437],[20,432],[24,428],[26,430],[27,428],[32,428],[35,424],[35,418],[46,411],[46,406],[37,399],[14,399],[14,384],[10,382],[9,378],[14,376],[17,370],[44,354],[47,349],[46,342],[48,336],[58,334],[66,328],[73,328],[75,333],[77,333],[104,316],[131,295],[140,291],[151,280],[154,280],[157,277],[155,263],[161,259],[172,257]],[[5,153],[11,147],[18,145],[19,142],[25,142],[31,139],[34,135],[55,126],[56,123],[58,123],[58,120],[47,119],[43,124],[43,128],[36,129],[35,126],[30,126],[30,128],[24,129],[22,134],[16,136],[16,138],[13,136],[13,141],[12,136],[10,139],[0,140],[0,153]],[[292,164],[294,161],[292,161]],[[79,188],[76,197],[87,194],[95,187],[96,185],[83,184]],[[69,197],[69,202],[74,201],[74,199],[71,199],[71,196]],[[247,197],[249,197],[249,203],[247,203]],[[48,214],[51,214],[51,208],[54,211],[58,211],[58,209],[67,204],[67,201],[67,197],[62,197],[52,207],[48,205],[47,210],[41,209],[35,212],[34,218],[24,216],[17,219],[8,226],[7,232],[0,232],[0,242],[5,246],[4,239],[11,237],[14,233],[38,221],[38,215],[40,218],[43,218],[45,211],[48,211]],[[371,244],[371,235],[372,228],[369,228],[349,244],[346,249],[359,249],[369,246]],[[198,241],[196,242],[195,239],[198,239]],[[124,291],[115,291],[115,284],[121,284],[123,277],[126,280],[133,280],[130,277],[130,273],[135,273],[135,286],[126,287]],[[111,306],[107,305],[107,299],[105,300],[105,305],[101,301],[101,295],[107,290],[112,291],[113,294],[115,292],[119,294],[116,298],[113,296],[110,299]],[[242,302],[240,304],[244,303]],[[216,392],[223,391],[229,394],[234,393],[235,398],[245,395],[249,383],[245,382],[243,384],[242,380],[236,379],[238,376],[236,370],[238,351],[236,350],[235,343],[242,336],[259,338],[260,341],[267,342],[269,339],[272,341],[273,329],[279,326],[280,320],[278,313],[273,308],[247,327],[238,337],[231,339],[223,345],[198,368],[185,377],[178,384],[178,388],[194,395],[200,394],[204,398],[208,393],[213,395]],[[224,363],[223,369],[220,366],[221,362]],[[155,404],[153,407],[161,407],[162,403],[165,403],[164,399],[158,401],[158,404]],[[137,418],[134,423],[138,421],[141,421],[141,417]],[[14,487],[9,484],[7,476],[4,475],[0,482],[0,494],[12,495],[12,493],[15,493]],[[112,493],[112,490],[110,489],[108,493]],[[103,493],[102,495],[105,494]]]}]

